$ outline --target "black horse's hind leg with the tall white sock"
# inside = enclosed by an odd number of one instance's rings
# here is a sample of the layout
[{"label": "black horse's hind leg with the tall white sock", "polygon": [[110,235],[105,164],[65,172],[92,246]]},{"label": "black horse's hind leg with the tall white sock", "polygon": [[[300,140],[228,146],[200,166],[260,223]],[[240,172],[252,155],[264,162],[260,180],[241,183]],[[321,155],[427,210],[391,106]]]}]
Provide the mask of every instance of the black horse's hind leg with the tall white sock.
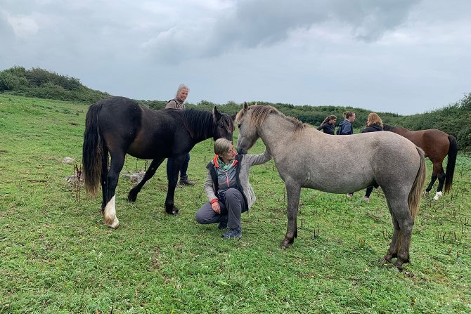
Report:
[{"label": "black horse's hind leg with the tall white sock", "polygon": [[103,216],[105,218],[105,225],[111,228],[117,228],[120,225],[116,217],[116,207],[115,207],[115,191],[118,178],[120,176],[120,171],[124,165],[124,155],[123,154],[111,154],[111,164],[110,171],[108,171],[108,176],[106,182],[107,186],[107,202],[105,209],[103,209]]}]

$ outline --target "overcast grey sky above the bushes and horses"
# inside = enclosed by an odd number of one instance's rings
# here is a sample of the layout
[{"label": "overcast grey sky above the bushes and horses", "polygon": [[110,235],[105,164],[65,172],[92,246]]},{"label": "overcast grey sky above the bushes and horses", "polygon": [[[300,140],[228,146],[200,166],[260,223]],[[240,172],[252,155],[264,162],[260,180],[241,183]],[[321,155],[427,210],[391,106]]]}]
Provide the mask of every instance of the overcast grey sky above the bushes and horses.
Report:
[{"label": "overcast grey sky above the bushes and horses", "polygon": [[0,70],[140,100],[411,115],[471,92],[471,1],[0,0]]}]

